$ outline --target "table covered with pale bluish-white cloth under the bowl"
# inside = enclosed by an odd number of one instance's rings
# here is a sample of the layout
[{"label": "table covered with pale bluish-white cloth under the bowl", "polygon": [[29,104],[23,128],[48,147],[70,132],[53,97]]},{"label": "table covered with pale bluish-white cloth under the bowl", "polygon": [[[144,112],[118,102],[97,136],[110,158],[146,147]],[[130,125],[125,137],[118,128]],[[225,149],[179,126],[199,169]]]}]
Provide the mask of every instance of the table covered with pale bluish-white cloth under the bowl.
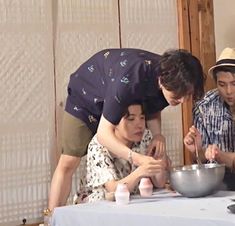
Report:
[{"label": "table covered with pale bluish-white cloth under the bowl", "polygon": [[235,192],[186,198],[168,190],[149,198],[134,196],[128,205],[99,201],[55,208],[52,226],[235,226]]}]

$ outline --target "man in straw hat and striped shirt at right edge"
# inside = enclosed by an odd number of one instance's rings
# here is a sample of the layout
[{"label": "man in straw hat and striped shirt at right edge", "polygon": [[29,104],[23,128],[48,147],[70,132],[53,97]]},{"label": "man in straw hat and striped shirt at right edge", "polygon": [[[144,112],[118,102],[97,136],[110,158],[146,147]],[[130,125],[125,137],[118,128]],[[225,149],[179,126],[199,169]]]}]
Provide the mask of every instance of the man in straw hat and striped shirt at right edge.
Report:
[{"label": "man in straw hat and striped shirt at right edge", "polygon": [[190,151],[195,152],[196,136],[201,159],[224,163],[226,189],[235,190],[235,49],[225,48],[209,74],[217,88],[208,91],[196,103],[194,126],[184,142]]}]

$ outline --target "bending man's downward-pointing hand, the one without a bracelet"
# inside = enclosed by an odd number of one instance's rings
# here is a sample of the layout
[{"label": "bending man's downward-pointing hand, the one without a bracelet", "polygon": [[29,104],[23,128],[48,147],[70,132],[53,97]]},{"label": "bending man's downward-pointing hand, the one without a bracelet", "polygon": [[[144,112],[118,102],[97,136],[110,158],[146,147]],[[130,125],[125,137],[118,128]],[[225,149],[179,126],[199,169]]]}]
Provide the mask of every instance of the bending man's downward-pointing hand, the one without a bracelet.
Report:
[{"label": "bending man's downward-pointing hand, the one without a bracelet", "polygon": [[157,134],[153,137],[147,148],[147,155],[155,159],[162,158],[166,152],[166,139],[163,135]]}]

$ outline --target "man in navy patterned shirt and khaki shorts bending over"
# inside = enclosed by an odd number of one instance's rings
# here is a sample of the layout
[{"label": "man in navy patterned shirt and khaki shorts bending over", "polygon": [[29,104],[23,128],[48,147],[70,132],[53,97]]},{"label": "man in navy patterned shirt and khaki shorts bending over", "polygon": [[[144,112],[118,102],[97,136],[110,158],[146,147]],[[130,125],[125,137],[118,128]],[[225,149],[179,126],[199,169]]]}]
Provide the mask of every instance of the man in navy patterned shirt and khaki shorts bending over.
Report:
[{"label": "man in navy patterned shirt and khaki shorts bending over", "polygon": [[146,109],[146,123],[153,134],[148,152],[165,151],[161,134],[161,111],[204,92],[200,61],[186,50],[169,50],[158,55],[141,49],[106,49],[96,53],[77,71],[68,84],[62,154],[54,172],[49,209],[65,205],[72,175],[97,132],[98,141],[120,158],[135,165],[157,164],[156,159],[122,144],[114,134],[122,113],[133,101]]}]

